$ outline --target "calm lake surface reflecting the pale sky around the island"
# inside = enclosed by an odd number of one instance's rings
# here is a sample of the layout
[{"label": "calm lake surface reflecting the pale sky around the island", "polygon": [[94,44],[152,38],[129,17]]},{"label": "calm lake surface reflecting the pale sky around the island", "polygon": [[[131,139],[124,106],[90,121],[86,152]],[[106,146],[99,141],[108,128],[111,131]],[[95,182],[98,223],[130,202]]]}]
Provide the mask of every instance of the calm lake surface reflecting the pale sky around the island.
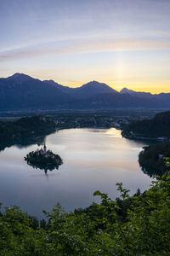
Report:
[{"label": "calm lake surface reflecting the pale sky around the island", "polygon": [[50,211],[59,203],[65,210],[88,207],[95,190],[118,196],[116,183],[135,193],[149,188],[150,177],[138,164],[139,151],[144,143],[122,138],[114,128],[71,129],[57,131],[46,137],[47,148],[59,154],[64,164],[59,170],[33,169],[24,156],[37,149],[20,145],[0,152],[0,201],[3,206],[17,205],[42,218],[42,209]]}]

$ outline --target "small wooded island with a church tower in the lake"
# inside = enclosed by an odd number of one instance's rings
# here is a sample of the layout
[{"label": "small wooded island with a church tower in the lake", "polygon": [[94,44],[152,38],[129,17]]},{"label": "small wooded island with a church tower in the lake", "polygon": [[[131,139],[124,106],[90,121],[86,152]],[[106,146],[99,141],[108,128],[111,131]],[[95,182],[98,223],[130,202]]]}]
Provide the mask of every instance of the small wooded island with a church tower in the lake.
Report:
[{"label": "small wooded island with a church tower in the lake", "polygon": [[58,169],[63,163],[59,154],[54,154],[51,150],[47,150],[45,143],[43,148],[26,154],[25,160],[28,165],[34,168],[49,169],[51,171],[55,168]]}]

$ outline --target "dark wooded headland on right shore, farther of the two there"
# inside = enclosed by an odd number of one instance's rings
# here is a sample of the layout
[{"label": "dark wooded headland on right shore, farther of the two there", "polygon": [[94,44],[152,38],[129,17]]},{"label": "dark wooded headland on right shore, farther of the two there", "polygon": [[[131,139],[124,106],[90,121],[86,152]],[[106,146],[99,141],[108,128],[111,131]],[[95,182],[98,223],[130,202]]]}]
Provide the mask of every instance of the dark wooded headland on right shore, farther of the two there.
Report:
[{"label": "dark wooded headland on right shore, farther of the two there", "polygon": [[130,123],[123,128],[122,136],[127,138],[170,137],[170,111],[157,113],[153,119]]}]

